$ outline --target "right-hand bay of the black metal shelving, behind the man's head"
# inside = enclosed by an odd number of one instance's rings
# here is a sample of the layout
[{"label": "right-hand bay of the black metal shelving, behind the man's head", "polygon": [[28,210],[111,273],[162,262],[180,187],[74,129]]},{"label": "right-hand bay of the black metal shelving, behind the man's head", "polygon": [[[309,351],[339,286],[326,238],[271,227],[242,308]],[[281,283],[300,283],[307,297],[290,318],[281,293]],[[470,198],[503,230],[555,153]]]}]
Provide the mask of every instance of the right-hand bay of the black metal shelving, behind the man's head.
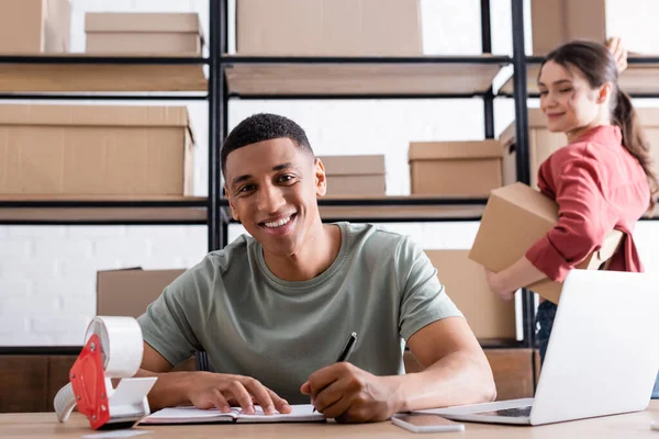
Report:
[{"label": "right-hand bay of the black metal shelving, behind the man's head", "polygon": [[[273,57],[225,55],[226,30],[228,27],[226,0],[211,2],[211,71],[217,79],[209,87],[211,101],[222,103],[214,132],[216,146],[226,136],[226,115],[232,99],[311,100],[311,99],[460,99],[478,98],[483,101],[484,133],[494,137],[495,95],[492,80],[502,66],[514,66],[517,138],[517,175],[520,181],[529,182],[528,170],[528,121],[526,116],[526,57],[524,55],[523,2],[513,0],[514,56],[492,56],[490,1],[481,0],[482,56],[423,56],[423,57]],[[216,40],[215,40],[216,38]],[[302,70],[302,71],[300,71]],[[324,71],[340,72],[342,77],[355,77],[354,82],[333,83],[323,78]],[[447,78],[471,76],[470,80],[447,83]],[[388,81],[360,87],[359,78],[383,72]],[[417,76],[414,76],[417,74]],[[422,83],[411,83],[409,76],[421,78]],[[444,75],[444,77],[443,77]],[[338,75],[328,75],[336,78]],[[300,81],[291,81],[298,78]],[[320,77],[320,78],[319,78]],[[264,79],[265,78],[265,79]],[[372,81],[371,76],[370,82]],[[392,79],[393,78],[393,79]],[[288,79],[288,81],[283,81]],[[314,82],[313,79],[316,81]],[[221,81],[220,81],[221,80]],[[425,80],[425,81],[424,81]],[[302,82],[303,86],[298,85]],[[377,80],[375,81],[377,82]],[[213,145],[213,144],[211,144]],[[211,150],[214,149],[211,148]],[[212,153],[211,153],[212,154]],[[209,228],[209,249],[220,249],[226,243],[228,224],[232,223],[226,200],[221,199],[221,166],[212,159],[214,171],[210,175],[209,205],[212,224]],[[487,199],[474,198],[381,198],[381,199],[321,199],[319,201],[323,221],[358,222],[463,222],[479,221]],[[219,212],[221,211],[221,212]],[[355,212],[358,212],[356,214]],[[535,345],[534,297],[523,292],[522,342],[501,346],[532,348]],[[496,345],[496,344],[495,344]]]}]

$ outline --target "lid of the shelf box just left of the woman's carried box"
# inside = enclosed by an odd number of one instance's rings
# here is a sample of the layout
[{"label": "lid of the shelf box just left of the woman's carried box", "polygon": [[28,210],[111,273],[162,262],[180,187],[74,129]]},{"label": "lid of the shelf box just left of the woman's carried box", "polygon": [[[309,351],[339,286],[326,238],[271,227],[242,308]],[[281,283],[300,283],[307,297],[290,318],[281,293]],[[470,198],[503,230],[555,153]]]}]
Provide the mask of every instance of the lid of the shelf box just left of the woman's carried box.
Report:
[{"label": "lid of the shelf box just left of the woman's carried box", "polygon": [[410,161],[412,160],[450,160],[501,158],[502,149],[493,139],[476,142],[412,142],[410,143]]}]

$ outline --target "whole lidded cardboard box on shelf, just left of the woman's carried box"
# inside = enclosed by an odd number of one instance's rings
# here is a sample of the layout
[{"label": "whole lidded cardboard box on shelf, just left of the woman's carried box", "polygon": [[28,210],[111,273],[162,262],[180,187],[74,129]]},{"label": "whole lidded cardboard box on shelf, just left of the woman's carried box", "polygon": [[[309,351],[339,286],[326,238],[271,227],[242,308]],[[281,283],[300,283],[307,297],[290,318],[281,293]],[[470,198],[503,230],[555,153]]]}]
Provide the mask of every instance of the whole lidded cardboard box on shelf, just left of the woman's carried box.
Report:
[{"label": "whole lidded cardboard box on shelf, just left of the woman's carried box", "polygon": [[496,140],[410,144],[412,194],[481,195],[501,187]]}]

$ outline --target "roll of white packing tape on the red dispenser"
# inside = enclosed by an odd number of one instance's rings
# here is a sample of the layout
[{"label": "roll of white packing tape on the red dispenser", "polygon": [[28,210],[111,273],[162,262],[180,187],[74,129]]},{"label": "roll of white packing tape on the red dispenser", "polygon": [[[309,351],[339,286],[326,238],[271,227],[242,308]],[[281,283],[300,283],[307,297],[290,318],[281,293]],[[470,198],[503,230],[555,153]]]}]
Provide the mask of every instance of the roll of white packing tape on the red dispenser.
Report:
[{"label": "roll of white packing tape on the red dispenser", "polygon": [[142,364],[142,328],[133,317],[94,317],[87,328],[85,345],[96,334],[101,339],[105,378],[130,378]]}]

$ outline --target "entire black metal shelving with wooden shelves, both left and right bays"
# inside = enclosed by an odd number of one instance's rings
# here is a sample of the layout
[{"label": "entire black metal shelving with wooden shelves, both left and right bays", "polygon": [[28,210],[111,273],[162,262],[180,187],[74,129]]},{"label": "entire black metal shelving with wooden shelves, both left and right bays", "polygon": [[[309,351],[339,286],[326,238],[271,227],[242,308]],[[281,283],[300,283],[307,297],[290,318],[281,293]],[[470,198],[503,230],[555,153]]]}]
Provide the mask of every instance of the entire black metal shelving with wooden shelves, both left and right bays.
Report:
[{"label": "entire black metal shelving with wooden shelves, both left and right bays", "polygon": [[[0,99],[40,100],[205,100],[209,108],[208,198],[189,200],[8,200],[0,198],[0,224],[206,224],[209,251],[226,245],[231,215],[222,198],[220,147],[227,134],[233,99],[460,99],[483,101],[484,133],[494,137],[492,79],[513,65],[517,121],[517,176],[528,183],[527,63],[524,54],[523,1],[512,1],[513,57],[491,56],[490,0],[481,0],[482,56],[424,57],[245,57],[227,54],[227,0],[209,0],[208,58],[0,56]],[[208,66],[208,78],[201,75]],[[346,83],[316,82],[287,88],[278,80],[291,66],[304,75],[335,69],[355,78]],[[46,75],[47,71],[47,75]],[[105,72],[103,72],[105,71]],[[253,74],[268,72],[259,82]],[[359,78],[384,72],[379,87],[359,86]],[[457,74],[459,72],[459,74]],[[76,81],[70,77],[76,76]],[[118,76],[119,75],[119,76]],[[46,81],[44,78],[49,78]],[[110,78],[110,79],[109,79]],[[121,80],[118,80],[121,78]],[[279,79],[278,79],[279,78]],[[412,78],[412,80],[410,79]],[[453,79],[451,79],[453,78]],[[113,80],[112,80],[113,79]],[[454,82],[450,82],[450,81]],[[448,82],[450,83],[448,83]],[[457,81],[457,82],[456,82]],[[289,81],[290,82],[290,81]],[[364,82],[364,81],[362,81]],[[377,81],[375,81],[377,82]],[[448,85],[448,87],[447,87]],[[135,92],[166,94],[143,95]],[[323,199],[324,221],[458,222],[479,221],[485,199],[382,198]],[[362,211],[355,214],[356,207]],[[121,213],[121,214],[119,214]],[[533,295],[523,295],[524,340],[492,342],[493,347],[533,348]],[[509,342],[510,341],[510,342]],[[42,350],[34,350],[42,352]],[[23,351],[24,352],[24,351]],[[202,363],[203,365],[203,363]]]}]

